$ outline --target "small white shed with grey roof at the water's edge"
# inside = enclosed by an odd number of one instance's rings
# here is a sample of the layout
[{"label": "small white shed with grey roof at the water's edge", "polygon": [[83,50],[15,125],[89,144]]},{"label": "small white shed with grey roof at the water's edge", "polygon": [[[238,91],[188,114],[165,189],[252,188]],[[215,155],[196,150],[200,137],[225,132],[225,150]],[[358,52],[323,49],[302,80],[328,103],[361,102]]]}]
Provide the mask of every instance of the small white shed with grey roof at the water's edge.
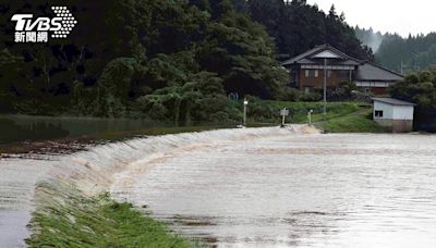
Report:
[{"label": "small white shed with grey roof at the water's edge", "polygon": [[393,98],[373,98],[374,121],[382,126],[390,127],[393,133],[413,131],[413,114],[415,103]]}]

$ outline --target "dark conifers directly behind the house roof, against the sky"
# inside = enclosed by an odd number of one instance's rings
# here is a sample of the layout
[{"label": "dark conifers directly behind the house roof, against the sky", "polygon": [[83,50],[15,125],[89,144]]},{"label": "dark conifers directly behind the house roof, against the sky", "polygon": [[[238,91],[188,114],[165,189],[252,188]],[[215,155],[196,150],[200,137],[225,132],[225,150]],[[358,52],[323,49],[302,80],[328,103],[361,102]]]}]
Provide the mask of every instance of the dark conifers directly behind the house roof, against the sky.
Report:
[{"label": "dark conifers directly behind the house roof, against the sky", "polygon": [[289,3],[282,0],[249,0],[246,9],[253,20],[265,25],[275,38],[281,57],[295,57],[317,45],[329,44],[356,59],[373,60],[372,49],[362,46],[354,29],[347,24],[346,14],[338,14],[335,5],[324,13],[316,4],[307,4],[306,0]]}]

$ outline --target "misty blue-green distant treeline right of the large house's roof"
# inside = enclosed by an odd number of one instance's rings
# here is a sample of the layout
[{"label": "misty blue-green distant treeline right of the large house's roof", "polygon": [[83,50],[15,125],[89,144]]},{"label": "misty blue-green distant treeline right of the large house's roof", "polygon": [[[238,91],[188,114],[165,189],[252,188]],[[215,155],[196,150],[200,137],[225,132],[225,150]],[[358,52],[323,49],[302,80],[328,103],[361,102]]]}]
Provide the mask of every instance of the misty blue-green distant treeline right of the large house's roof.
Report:
[{"label": "misty blue-green distant treeline right of the large house's roof", "polygon": [[355,33],[363,44],[373,48],[376,61],[390,70],[410,73],[436,65],[436,33],[403,38],[359,26]]}]

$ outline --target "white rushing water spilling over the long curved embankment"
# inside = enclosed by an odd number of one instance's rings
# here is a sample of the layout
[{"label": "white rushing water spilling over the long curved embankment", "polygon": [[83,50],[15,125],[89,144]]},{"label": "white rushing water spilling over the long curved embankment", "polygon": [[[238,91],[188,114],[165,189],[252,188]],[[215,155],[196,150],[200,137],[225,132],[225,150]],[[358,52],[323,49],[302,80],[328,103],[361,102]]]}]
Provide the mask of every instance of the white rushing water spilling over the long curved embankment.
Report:
[{"label": "white rushing water spilling over the long curved embankment", "polygon": [[35,187],[39,182],[62,181],[74,184],[87,195],[117,191],[117,185],[132,184],[133,175],[147,170],[153,161],[186,149],[215,147],[219,144],[303,132],[292,128],[218,129],[184,133],[90,147],[69,156],[47,157],[56,160],[0,160],[0,245],[24,246],[26,225],[35,211]]}]

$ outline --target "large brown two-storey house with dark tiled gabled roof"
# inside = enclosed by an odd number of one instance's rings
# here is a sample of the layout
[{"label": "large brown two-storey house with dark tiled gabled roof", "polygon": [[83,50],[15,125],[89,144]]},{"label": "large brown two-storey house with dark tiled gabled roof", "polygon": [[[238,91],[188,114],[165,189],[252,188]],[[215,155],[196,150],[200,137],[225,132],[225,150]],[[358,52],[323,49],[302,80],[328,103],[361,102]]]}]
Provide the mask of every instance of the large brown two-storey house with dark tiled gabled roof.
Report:
[{"label": "large brown two-storey house with dark tiled gabled roof", "polygon": [[284,61],[282,65],[291,74],[290,85],[305,91],[324,88],[324,72],[327,74],[328,88],[335,88],[340,83],[354,82],[358,87],[375,95],[387,94],[391,84],[404,79],[396,72],[354,59],[329,45],[317,46]]}]

